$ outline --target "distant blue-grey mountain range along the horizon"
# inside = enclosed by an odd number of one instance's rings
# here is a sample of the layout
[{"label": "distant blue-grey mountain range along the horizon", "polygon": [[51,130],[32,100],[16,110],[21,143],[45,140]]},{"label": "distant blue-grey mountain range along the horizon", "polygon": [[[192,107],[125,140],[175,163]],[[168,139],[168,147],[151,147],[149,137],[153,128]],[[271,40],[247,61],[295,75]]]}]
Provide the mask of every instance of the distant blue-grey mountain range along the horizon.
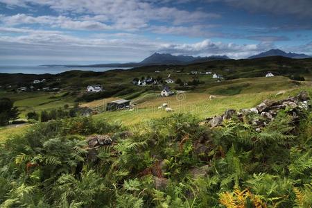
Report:
[{"label": "distant blue-grey mountain range along the horizon", "polygon": [[[271,49],[269,51],[252,55],[248,59],[264,58],[268,56],[283,56],[286,58],[311,58],[311,56],[304,53],[286,53],[279,49]],[[226,55],[211,55],[206,57],[194,57],[191,55],[172,55],[170,53],[153,53],[141,62],[129,63],[113,63],[113,64],[91,64],[91,65],[66,65],[65,67],[143,67],[149,65],[166,65],[166,64],[193,64],[198,62],[209,62],[213,60],[229,60]],[[50,65],[53,66],[53,65]]]}]

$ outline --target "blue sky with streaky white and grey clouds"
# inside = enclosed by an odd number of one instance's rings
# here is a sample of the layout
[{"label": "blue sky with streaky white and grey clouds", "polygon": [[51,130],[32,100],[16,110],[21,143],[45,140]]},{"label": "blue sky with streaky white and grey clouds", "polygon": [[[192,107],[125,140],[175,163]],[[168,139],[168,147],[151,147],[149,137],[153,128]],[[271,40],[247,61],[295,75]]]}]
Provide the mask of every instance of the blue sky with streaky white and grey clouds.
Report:
[{"label": "blue sky with streaky white and grey clouds", "polygon": [[311,0],[0,0],[0,64],[312,55]]}]

